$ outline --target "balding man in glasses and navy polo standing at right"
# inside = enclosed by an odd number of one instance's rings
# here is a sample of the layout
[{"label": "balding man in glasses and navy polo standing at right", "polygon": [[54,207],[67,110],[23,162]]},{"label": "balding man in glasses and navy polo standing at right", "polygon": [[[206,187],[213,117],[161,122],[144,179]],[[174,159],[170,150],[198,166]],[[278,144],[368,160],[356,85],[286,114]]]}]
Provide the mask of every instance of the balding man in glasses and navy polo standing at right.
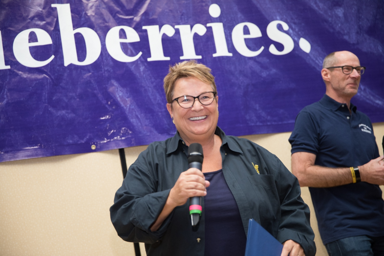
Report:
[{"label": "balding man in glasses and navy polo standing at right", "polygon": [[383,156],[370,119],[351,103],[364,71],[351,52],[325,57],[326,94],[297,115],[289,138],[292,173],[309,187],[330,256],[384,255]]}]

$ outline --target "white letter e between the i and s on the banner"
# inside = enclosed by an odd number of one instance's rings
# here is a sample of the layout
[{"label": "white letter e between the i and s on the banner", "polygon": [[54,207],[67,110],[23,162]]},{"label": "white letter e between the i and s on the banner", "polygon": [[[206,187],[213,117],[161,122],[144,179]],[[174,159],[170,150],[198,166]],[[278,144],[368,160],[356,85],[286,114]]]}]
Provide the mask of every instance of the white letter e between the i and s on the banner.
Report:
[{"label": "white letter e between the i and s on the banner", "polygon": [[[247,26],[249,29],[249,34],[244,35],[244,27]],[[257,38],[261,37],[261,31],[258,26],[254,25],[253,23],[249,22],[243,22],[236,26],[234,26],[232,30],[232,42],[234,48],[243,56],[245,57],[254,57],[259,55],[263,50],[264,46],[262,46],[258,51],[251,51],[248,49],[247,45],[245,44],[245,38]]]}]

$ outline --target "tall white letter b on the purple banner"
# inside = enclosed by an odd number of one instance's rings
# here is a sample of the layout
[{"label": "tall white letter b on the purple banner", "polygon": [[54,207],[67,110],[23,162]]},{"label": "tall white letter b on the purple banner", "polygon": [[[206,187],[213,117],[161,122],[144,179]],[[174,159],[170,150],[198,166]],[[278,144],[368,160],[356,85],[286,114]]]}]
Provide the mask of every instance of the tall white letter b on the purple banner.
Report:
[{"label": "tall white letter b on the purple banner", "polygon": [[[77,28],[73,30],[71,7],[69,4],[52,4],[51,6],[57,8],[64,66],[67,67],[71,63],[86,66],[95,62],[101,53],[101,43],[97,33],[90,28]],[[77,58],[75,33],[80,33],[86,42],[86,59],[83,61],[79,61]]]}]

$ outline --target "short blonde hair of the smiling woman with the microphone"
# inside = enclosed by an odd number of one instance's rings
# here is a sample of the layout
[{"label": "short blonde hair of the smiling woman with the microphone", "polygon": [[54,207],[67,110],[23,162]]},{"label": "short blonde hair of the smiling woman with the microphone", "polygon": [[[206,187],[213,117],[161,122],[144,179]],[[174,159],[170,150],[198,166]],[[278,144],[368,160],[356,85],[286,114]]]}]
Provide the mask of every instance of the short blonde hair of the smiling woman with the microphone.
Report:
[{"label": "short blonde hair of the smiling woman with the microphone", "polygon": [[164,77],[164,91],[168,103],[172,102],[175,83],[182,77],[195,77],[202,82],[209,84],[212,91],[217,93],[215,77],[210,73],[207,66],[197,63],[196,60],[188,60],[169,66],[169,73]]}]

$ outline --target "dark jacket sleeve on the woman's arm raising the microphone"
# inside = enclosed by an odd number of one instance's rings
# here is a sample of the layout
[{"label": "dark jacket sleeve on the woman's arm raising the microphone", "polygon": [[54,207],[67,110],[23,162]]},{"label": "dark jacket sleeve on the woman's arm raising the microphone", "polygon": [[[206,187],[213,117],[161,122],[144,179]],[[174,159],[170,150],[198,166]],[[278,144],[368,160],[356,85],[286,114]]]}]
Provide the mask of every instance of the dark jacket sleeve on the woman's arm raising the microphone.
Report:
[{"label": "dark jacket sleeve on the woman's arm raising the microphone", "polygon": [[150,230],[165,205],[170,189],[157,191],[156,172],[148,169],[145,158],[144,151],[130,166],[122,186],[116,192],[110,213],[112,223],[123,240],[152,244],[161,239],[173,213],[157,231]]}]

